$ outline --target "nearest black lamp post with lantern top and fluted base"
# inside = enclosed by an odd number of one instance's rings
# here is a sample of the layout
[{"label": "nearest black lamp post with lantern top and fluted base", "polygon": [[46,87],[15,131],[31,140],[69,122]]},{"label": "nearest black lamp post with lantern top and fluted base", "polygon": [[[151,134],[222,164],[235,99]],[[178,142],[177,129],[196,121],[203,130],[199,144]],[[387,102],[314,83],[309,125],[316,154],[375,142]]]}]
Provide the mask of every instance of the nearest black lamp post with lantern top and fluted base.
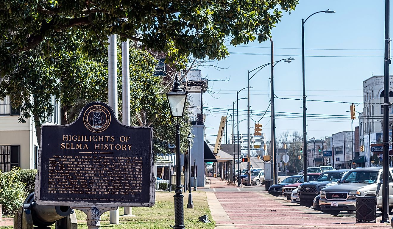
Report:
[{"label": "nearest black lamp post with lantern top and fluted base", "polygon": [[[169,107],[171,108],[172,117],[183,117],[187,92],[182,91],[177,75],[174,78],[173,89],[167,93]],[[184,207],[182,194],[182,180],[180,170],[180,124],[176,123],[176,189],[174,191],[174,229],[183,229],[184,225]]]}]

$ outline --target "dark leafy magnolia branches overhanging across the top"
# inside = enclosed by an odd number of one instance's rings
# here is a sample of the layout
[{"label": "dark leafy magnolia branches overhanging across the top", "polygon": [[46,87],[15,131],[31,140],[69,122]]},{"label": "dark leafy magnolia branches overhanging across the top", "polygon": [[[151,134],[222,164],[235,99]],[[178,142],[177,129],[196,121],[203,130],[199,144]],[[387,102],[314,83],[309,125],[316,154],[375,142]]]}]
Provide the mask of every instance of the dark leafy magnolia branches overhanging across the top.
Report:
[{"label": "dark leafy magnolia branches overhanging across the top", "polygon": [[42,44],[46,57],[57,34],[83,31],[81,51],[105,53],[107,37],[120,35],[149,50],[167,53],[167,63],[182,68],[190,55],[223,59],[231,45],[263,42],[282,11],[298,0],[4,0],[0,2],[0,82],[14,68],[18,55]]}]

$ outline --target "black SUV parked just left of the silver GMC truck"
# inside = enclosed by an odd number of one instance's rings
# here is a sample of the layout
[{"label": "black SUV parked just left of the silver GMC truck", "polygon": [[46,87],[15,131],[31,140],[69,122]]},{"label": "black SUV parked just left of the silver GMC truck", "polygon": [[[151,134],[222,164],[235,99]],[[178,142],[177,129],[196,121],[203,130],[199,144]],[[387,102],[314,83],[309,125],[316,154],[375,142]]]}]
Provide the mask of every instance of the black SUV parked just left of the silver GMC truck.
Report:
[{"label": "black SUV parked just left of the silver GMC truck", "polygon": [[342,179],[348,171],[348,169],[330,170],[321,173],[317,178],[314,178],[314,181],[299,185],[298,196],[300,204],[311,207],[312,201],[320,194],[321,189],[336,184],[337,180]]}]

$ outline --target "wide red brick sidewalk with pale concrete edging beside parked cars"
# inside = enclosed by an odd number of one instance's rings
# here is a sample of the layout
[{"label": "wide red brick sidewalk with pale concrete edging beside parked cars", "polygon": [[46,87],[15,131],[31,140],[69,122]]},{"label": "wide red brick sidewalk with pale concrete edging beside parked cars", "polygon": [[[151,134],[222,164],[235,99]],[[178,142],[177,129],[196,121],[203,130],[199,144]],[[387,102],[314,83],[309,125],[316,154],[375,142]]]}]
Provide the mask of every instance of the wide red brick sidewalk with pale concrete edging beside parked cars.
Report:
[{"label": "wide red brick sidewalk with pale concrete edging beside parked cars", "polygon": [[331,216],[266,192],[208,192],[207,195],[216,229],[391,228],[389,224],[356,224],[355,215]]}]

